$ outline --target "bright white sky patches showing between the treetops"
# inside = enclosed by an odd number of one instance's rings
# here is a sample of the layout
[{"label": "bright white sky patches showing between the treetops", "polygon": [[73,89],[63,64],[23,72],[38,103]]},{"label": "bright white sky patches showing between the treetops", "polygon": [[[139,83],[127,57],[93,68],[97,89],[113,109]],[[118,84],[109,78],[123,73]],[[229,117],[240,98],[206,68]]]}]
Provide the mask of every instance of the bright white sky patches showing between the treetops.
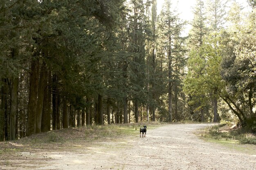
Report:
[{"label": "bright white sky patches showing between the treetops", "polygon": [[[204,0],[204,2],[205,1],[206,0]],[[240,3],[243,7],[247,7],[248,9],[248,4],[246,1],[247,0],[236,0],[236,2]],[[163,3],[164,3],[164,0],[157,0],[157,13],[160,13]],[[178,13],[180,13],[180,18],[182,20],[187,20],[187,21],[193,20],[192,7],[195,6],[196,0],[171,0],[171,3],[173,7],[177,8],[177,11]],[[191,28],[190,25],[186,26],[185,34],[188,33],[190,28]]]}]

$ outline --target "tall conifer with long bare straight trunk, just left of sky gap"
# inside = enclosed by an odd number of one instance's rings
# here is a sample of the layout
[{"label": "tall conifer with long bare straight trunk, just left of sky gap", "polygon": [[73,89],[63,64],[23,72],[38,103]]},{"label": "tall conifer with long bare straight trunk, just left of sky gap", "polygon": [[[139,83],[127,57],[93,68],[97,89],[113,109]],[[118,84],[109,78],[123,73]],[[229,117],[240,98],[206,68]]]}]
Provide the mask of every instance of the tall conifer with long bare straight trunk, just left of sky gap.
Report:
[{"label": "tall conifer with long bare straight trunk, just left of sky gap", "polygon": [[177,14],[171,12],[171,2],[166,0],[159,15],[159,38],[160,46],[164,49],[162,55],[166,55],[166,65],[168,71],[168,121],[173,121],[173,85],[175,82],[174,65],[179,58],[178,53],[183,51],[181,48],[181,31],[184,22],[180,20]]}]

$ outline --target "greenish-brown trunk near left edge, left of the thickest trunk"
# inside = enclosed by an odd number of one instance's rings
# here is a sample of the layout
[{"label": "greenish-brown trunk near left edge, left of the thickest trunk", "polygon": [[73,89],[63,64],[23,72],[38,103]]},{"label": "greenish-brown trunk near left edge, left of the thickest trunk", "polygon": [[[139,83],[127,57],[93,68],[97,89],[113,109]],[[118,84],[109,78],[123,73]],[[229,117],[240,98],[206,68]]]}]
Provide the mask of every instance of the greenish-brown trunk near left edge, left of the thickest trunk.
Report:
[{"label": "greenish-brown trunk near left edge, left of the thickest trunk", "polygon": [[18,98],[18,77],[14,77],[11,84],[11,110],[10,110],[10,140],[16,139],[16,113]]}]

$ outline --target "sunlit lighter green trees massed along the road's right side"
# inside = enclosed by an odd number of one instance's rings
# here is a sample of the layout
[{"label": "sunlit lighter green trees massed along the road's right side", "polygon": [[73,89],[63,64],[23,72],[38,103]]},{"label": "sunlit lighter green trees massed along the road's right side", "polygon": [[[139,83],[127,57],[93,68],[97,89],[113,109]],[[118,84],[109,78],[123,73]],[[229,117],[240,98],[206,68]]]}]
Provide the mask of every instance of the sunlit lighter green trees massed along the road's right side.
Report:
[{"label": "sunlit lighter green trees massed along the road's right side", "polygon": [[[214,0],[205,6],[202,0],[197,1],[184,90],[191,110],[201,115],[201,121],[212,103],[214,121],[229,118],[230,110],[242,126],[255,130],[256,10],[255,1],[248,2],[252,11],[243,12],[237,2]],[[221,117],[217,110],[222,110]]]}]

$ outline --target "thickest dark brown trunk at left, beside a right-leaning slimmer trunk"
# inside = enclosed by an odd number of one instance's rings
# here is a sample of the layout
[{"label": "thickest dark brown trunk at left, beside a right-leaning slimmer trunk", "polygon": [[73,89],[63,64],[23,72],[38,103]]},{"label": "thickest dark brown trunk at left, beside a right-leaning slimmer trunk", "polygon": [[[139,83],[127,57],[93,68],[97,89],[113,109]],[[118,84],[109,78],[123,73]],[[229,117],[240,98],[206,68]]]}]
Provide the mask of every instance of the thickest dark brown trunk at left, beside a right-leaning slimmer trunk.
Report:
[{"label": "thickest dark brown trunk at left, beside a right-leaning slimmer trunk", "polygon": [[[37,54],[35,53],[35,56]],[[26,136],[35,134],[36,132],[36,108],[38,95],[38,77],[39,77],[39,59],[33,57],[31,59],[31,74],[29,82],[29,102],[28,102],[28,121]]]}]

